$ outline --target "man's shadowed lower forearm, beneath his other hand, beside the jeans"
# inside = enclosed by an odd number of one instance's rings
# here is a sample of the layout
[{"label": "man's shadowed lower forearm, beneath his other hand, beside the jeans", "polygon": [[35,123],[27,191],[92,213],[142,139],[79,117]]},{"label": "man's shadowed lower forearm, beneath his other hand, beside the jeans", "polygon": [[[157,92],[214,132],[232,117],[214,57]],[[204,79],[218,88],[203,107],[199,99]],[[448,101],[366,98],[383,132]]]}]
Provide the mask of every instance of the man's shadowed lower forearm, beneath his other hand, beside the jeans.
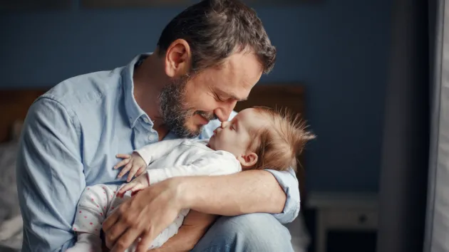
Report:
[{"label": "man's shadowed lower forearm, beneath his other hand, beside the jeans", "polygon": [[215,219],[217,216],[213,214],[190,211],[185,216],[177,234],[168,239],[162,247],[153,249],[151,252],[191,251]]}]

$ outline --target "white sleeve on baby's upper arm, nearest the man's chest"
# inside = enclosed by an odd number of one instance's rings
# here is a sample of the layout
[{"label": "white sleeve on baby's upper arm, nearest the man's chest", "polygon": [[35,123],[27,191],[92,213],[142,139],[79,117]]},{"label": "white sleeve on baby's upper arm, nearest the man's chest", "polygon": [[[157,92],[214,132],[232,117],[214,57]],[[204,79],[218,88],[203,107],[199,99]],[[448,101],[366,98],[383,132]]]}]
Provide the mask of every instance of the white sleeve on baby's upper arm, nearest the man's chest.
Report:
[{"label": "white sleeve on baby's upper arm, nearest the man's chest", "polygon": [[159,159],[169,152],[171,152],[175,147],[180,145],[184,139],[173,139],[173,140],[163,140],[160,142],[155,142],[151,145],[145,145],[140,149],[136,149],[140,157],[145,160],[145,164],[150,164],[155,161],[155,159]]}]

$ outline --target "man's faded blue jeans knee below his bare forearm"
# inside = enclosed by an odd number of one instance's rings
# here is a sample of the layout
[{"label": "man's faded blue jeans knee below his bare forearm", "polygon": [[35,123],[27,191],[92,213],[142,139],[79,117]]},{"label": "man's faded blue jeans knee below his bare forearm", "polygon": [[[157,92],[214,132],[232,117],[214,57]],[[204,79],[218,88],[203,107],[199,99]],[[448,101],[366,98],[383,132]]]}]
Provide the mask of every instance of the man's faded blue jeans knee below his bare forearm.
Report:
[{"label": "man's faded blue jeans knee below his bare forearm", "polygon": [[271,214],[222,216],[192,252],[293,251],[289,230]]}]

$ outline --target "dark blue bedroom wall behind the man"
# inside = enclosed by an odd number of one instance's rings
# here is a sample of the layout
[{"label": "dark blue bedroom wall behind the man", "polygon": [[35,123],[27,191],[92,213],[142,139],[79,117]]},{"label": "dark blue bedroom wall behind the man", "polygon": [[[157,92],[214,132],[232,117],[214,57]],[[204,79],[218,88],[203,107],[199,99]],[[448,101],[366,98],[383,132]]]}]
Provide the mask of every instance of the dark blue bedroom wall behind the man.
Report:
[{"label": "dark blue bedroom wall behind the man", "polygon": [[[312,1],[309,1],[312,2]],[[386,0],[256,8],[278,48],[262,82],[300,82],[318,138],[306,155],[314,191],[377,191],[390,44]],[[79,9],[0,16],[0,88],[51,86],[153,50],[180,9]]]}]

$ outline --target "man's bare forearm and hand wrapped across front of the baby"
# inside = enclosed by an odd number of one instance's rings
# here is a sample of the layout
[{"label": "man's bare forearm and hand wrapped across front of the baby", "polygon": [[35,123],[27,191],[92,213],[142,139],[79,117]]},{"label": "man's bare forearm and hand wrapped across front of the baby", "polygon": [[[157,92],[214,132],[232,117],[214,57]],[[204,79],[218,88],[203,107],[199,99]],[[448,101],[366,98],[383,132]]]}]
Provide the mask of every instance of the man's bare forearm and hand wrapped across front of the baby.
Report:
[{"label": "man's bare forearm and hand wrapped across front of the baby", "polygon": [[254,212],[281,214],[286,199],[277,179],[267,171],[175,177],[153,184],[123,202],[103,222],[103,230],[111,252],[125,251],[139,237],[136,251],[142,252],[181,209],[229,216]]}]

